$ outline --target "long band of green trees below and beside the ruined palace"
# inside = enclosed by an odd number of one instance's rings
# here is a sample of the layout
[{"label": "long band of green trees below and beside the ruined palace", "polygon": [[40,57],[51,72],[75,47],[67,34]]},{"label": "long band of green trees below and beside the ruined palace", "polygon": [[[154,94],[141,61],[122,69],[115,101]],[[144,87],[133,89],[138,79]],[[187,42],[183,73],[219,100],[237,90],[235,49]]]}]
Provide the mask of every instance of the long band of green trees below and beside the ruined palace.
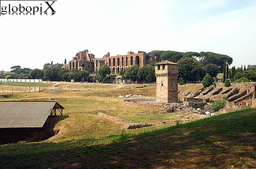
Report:
[{"label": "long band of green trees below and beside the ruined palace", "polygon": [[[206,75],[212,78],[216,77],[218,73],[223,73],[223,82],[230,79],[231,82],[241,81],[255,81],[256,69],[247,70],[242,66],[240,68],[231,68],[233,59],[227,55],[215,54],[213,52],[176,52],[176,51],[162,51],[153,50],[150,54],[155,54],[160,60],[173,61],[179,64],[179,81],[180,83],[196,83],[202,82]],[[106,83],[107,79],[113,79],[120,75],[123,79],[130,79],[133,83],[141,82],[155,82],[154,63],[139,68],[138,65],[133,65],[125,70],[120,70],[118,74],[111,74],[108,65],[102,65],[98,72],[89,74],[85,70],[62,69],[62,64],[56,67],[51,67],[52,63],[46,63],[43,70],[30,68],[21,68],[20,66],[11,67],[16,74],[10,75],[8,78],[12,79],[43,79],[49,81],[71,81],[76,82],[101,82]],[[0,75],[0,78],[6,76]]]}]

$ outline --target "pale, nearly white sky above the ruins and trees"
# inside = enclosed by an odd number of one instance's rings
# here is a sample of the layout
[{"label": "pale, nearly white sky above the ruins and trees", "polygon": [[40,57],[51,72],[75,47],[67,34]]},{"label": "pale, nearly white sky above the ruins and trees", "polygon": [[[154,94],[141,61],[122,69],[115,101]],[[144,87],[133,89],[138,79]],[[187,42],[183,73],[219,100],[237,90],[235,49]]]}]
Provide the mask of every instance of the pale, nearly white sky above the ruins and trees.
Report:
[{"label": "pale, nearly white sky above the ruins and trees", "polygon": [[[1,12],[8,4],[48,7],[43,0],[0,3]],[[236,68],[256,65],[256,0],[57,0],[51,7],[52,16],[1,14],[0,71],[64,64],[83,50],[95,58],[209,51],[230,56]]]}]

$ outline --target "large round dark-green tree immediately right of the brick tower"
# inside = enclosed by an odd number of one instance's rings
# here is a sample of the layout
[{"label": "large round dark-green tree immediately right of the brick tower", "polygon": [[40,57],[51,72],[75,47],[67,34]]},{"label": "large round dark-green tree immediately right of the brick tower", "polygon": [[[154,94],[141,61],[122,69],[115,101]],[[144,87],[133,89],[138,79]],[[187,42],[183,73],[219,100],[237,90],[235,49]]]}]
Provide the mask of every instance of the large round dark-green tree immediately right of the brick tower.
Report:
[{"label": "large round dark-green tree immediately right of the brick tower", "polygon": [[200,61],[197,61],[193,58],[183,58],[178,61],[179,64],[179,74],[184,79],[184,82],[187,81],[196,82],[202,80],[205,76],[205,71],[203,64]]}]

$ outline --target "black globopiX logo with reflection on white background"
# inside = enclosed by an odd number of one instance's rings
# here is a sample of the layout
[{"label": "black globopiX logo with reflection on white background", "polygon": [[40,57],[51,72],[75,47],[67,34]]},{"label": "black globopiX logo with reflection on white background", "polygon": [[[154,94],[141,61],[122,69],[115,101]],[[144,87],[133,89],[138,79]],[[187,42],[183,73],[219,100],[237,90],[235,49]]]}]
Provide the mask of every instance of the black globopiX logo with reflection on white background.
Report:
[{"label": "black globopiX logo with reflection on white background", "polygon": [[[54,3],[57,0],[53,1],[40,1],[32,0],[28,1],[31,5],[25,4],[4,4],[5,0],[1,1],[1,13],[0,16],[4,15],[54,15],[56,11],[54,10]],[[21,0],[22,2],[22,0]],[[33,2],[33,4],[32,4]],[[4,4],[4,5],[2,5]]]}]

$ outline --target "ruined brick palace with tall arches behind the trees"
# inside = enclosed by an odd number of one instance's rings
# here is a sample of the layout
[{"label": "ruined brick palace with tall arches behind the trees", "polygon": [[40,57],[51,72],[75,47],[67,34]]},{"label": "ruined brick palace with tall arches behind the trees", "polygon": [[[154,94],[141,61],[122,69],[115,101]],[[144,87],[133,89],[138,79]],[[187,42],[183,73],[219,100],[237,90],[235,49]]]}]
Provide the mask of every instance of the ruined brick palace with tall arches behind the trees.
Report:
[{"label": "ruined brick palace with tall arches behind the trees", "polygon": [[62,68],[86,70],[90,73],[97,72],[102,65],[109,65],[111,73],[119,73],[132,65],[143,67],[145,65],[159,61],[159,57],[139,51],[137,54],[128,52],[126,55],[110,56],[105,54],[103,58],[94,58],[94,54],[89,54],[88,50],[80,51],[73,57],[72,61]]}]

